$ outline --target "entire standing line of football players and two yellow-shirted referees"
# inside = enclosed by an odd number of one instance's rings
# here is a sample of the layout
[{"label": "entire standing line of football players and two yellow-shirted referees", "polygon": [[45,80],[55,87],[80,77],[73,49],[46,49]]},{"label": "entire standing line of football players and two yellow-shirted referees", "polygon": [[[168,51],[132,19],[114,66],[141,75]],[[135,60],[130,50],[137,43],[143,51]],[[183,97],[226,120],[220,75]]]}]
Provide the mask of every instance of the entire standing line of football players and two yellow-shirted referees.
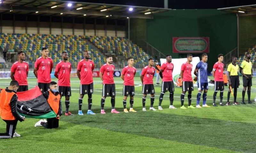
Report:
[{"label": "entire standing line of football players and two yellow-shirted referees", "polygon": [[[53,62],[50,57],[48,57],[49,51],[47,48],[42,49],[42,56],[39,57],[35,62],[35,69],[34,73],[37,77],[37,85],[42,90],[42,92],[47,91],[49,89],[49,82],[51,82],[51,71],[53,68]],[[28,64],[24,62],[25,60],[25,53],[19,52],[19,61],[15,62],[11,69],[11,77],[12,79],[17,80],[21,86],[24,85],[24,87],[21,87],[21,90],[27,90],[27,72],[28,72]],[[247,57],[248,56],[248,57]],[[206,54],[202,55],[202,60],[196,65],[195,69],[195,75],[198,77],[198,89],[199,92],[197,94],[197,108],[200,108],[199,101],[201,98],[201,94],[203,93],[203,107],[209,107],[206,104],[206,98],[207,98],[207,90],[208,90],[208,78],[207,78],[207,59],[208,56]],[[236,91],[237,87],[239,85],[239,78],[238,78],[238,65],[236,64],[236,57],[232,58],[232,63],[229,64],[228,67],[228,78],[229,78],[229,85],[234,88],[234,105],[237,105],[236,102]],[[106,59],[106,64],[104,64],[100,68],[100,78],[103,82],[103,88],[102,88],[102,98],[101,98],[101,113],[104,114],[104,104],[106,97],[111,97],[111,105],[112,105],[112,113],[119,113],[115,110],[115,83],[113,79],[113,73],[115,66],[112,64],[112,57],[108,56]],[[213,66],[213,77],[214,77],[214,96],[213,96],[213,106],[217,106],[215,104],[216,100],[216,94],[220,90],[220,105],[224,106],[222,103],[223,99],[223,91],[224,91],[224,83],[223,83],[223,68],[224,64],[223,61],[223,55],[218,55],[218,62],[216,62]],[[135,94],[134,90],[134,76],[136,73],[136,69],[133,67],[134,61],[132,58],[128,58],[127,60],[128,66],[124,67],[122,70],[121,78],[124,80],[124,89],[123,89],[123,95],[124,95],[124,112],[128,112],[126,109],[126,100],[127,97],[130,96],[130,112],[135,112],[133,109],[133,97]],[[194,90],[193,87],[193,79],[191,76],[192,71],[192,55],[187,55],[187,62],[183,63],[181,66],[181,73],[180,76],[182,78],[182,93],[181,93],[181,108],[186,109],[184,104],[184,96],[185,93],[188,91],[188,108],[194,108],[194,106],[191,105],[191,93]],[[252,71],[251,74],[248,74],[248,68],[252,70],[252,66],[250,62],[250,54],[246,55],[246,60],[241,64],[240,71],[243,74],[243,82],[244,82],[244,90],[243,90],[243,102],[244,103],[244,93],[246,90],[246,87],[248,87],[248,100],[250,102],[250,88],[252,84]],[[170,107],[175,109],[175,107],[172,105],[173,103],[173,92],[174,92],[174,85],[172,80],[172,70],[173,70],[173,64],[172,64],[172,56],[166,55],[166,62],[162,64],[160,69],[160,76],[163,79],[162,87],[161,87],[161,94],[159,98],[159,106],[158,109],[162,110],[161,103],[164,97],[164,93],[166,91],[170,92]],[[22,71],[23,69],[23,71]],[[78,63],[77,66],[77,76],[81,81],[80,85],[80,97],[78,100],[79,103],[79,111],[78,114],[83,115],[82,113],[82,100],[84,97],[84,94],[88,94],[88,114],[95,114],[92,112],[92,93],[93,93],[93,79],[92,79],[92,71],[94,69],[94,62],[90,60],[90,53],[88,51],[84,51],[84,59],[81,60]],[[68,111],[69,108],[69,97],[71,96],[71,88],[70,88],[70,71],[71,71],[71,63],[68,62],[68,53],[63,52],[62,53],[62,61],[59,62],[55,68],[55,77],[58,78],[58,91],[62,96],[65,96],[65,105],[66,105],[66,113],[65,115],[70,115],[71,113]],[[151,96],[151,105],[150,110],[156,110],[153,107],[154,99],[155,99],[155,89],[153,85],[153,77],[155,74],[155,68],[154,68],[154,60],[152,58],[148,59],[148,66],[143,68],[141,73],[141,82],[143,84],[142,88],[142,105],[143,105],[143,111],[146,111],[145,108],[145,102],[146,102],[146,96],[147,94],[150,94]],[[233,81],[232,81],[233,80]],[[238,80],[238,81],[237,81]],[[231,89],[232,89],[231,88]],[[229,89],[228,92],[228,100],[230,97],[231,90]],[[227,103],[229,105],[229,101]]]}]

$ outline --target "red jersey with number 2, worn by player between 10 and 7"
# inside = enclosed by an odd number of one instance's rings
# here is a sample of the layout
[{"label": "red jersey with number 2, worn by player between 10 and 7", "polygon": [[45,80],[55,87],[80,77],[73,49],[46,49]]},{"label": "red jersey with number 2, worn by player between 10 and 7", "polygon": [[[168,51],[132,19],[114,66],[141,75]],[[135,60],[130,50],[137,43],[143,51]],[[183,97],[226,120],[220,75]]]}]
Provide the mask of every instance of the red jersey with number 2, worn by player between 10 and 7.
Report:
[{"label": "red jersey with number 2, worn by player between 10 and 7", "polygon": [[172,71],[173,71],[173,64],[164,62],[161,66],[163,70],[163,80],[162,81],[173,81],[172,80]]}]

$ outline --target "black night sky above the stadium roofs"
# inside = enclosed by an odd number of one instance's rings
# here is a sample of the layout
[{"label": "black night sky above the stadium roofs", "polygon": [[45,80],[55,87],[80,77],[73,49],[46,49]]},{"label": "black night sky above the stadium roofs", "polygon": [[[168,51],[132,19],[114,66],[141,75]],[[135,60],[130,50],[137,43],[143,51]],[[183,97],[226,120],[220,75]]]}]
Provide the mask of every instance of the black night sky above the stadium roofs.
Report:
[{"label": "black night sky above the stadium roofs", "polygon": [[[73,0],[73,1],[164,8],[164,0]],[[168,0],[168,2],[169,2],[170,9],[217,9],[217,8],[224,8],[224,7],[256,4],[256,0],[254,1],[253,0]]]}]

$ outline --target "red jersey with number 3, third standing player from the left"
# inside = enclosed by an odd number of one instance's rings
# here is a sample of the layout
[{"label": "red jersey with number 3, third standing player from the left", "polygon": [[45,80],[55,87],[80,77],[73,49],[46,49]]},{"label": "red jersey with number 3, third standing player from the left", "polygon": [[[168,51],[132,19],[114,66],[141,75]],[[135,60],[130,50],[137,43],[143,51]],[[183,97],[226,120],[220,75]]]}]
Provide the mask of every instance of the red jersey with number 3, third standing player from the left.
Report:
[{"label": "red jersey with number 3, third standing player from the left", "polygon": [[71,63],[63,61],[59,62],[56,65],[55,72],[58,73],[58,86],[70,87]]}]

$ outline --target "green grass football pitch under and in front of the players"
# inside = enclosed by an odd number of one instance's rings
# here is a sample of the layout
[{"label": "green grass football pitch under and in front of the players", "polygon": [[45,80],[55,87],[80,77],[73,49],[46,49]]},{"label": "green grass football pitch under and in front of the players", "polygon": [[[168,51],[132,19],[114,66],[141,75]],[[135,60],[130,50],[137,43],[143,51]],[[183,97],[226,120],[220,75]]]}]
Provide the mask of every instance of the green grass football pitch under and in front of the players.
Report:
[{"label": "green grass football pitch under and in front of the players", "polygon": [[[106,114],[100,114],[102,84],[100,78],[94,78],[92,110],[96,115],[86,114],[87,96],[83,100],[84,116],[77,115],[80,84],[77,78],[71,78],[70,111],[75,115],[61,116],[58,129],[35,128],[37,119],[27,118],[24,122],[18,122],[16,131],[21,137],[0,140],[0,152],[256,152],[256,104],[182,110],[179,108],[181,88],[175,88],[173,104],[178,109],[168,108],[169,93],[166,93],[163,111],[149,111],[148,95],[147,112],[142,112],[142,86],[139,85],[140,78],[136,77],[134,109],[137,112],[124,113],[123,81],[119,77],[114,79],[116,109],[121,113],[110,113],[110,98],[106,98]],[[253,82],[255,80],[253,78]],[[1,79],[0,88],[8,86],[9,82],[10,79]],[[29,88],[36,85],[36,79],[28,79],[28,82]],[[225,88],[224,103],[228,90]],[[155,85],[155,108],[158,106],[160,89],[161,86]],[[252,100],[256,97],[255,92],[256,88],[252,86]],[[193,106],[196,105],[196,95],[197,87],[192,92]],[[213,87],[210,87],[207,94],[209,106],[212,106],[212,95]],[[237,97],[238,101],[242,100],[242,86],[238,89]],[[62,101],[62,109],[65,110],[64,98]],[[184,103],[187,106],[187,98]],[[130,106],[129,98],[127,106]],[[4,131],[5,122],[1,120],[0,132]]]}]

